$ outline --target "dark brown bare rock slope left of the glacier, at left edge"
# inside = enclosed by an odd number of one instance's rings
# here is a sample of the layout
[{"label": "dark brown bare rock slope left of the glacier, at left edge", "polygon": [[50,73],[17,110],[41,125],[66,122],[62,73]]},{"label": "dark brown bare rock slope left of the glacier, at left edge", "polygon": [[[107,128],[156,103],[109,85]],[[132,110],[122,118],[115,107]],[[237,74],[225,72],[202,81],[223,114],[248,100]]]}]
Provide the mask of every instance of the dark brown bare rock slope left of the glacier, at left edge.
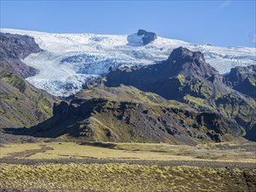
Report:
[{"label": "dark brown bare rock slope left of the glacier, at left edge", "polygon": [[0,70],[13,72],[22,78],[33,76],[37,70],[25,65],[21,59],[39,51],[42,50],[34,38],[0,32]]}]

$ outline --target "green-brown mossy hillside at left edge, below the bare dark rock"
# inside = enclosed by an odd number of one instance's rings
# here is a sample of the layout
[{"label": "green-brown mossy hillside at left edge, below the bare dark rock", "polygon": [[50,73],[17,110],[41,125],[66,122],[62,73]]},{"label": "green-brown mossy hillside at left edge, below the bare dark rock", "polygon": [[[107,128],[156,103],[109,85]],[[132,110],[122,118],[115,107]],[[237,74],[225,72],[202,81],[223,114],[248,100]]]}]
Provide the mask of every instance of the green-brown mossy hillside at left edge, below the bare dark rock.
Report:
[{"label": "green-brown mossy hillside at left edge, below the bare dark rock", "polygon": [[52,116],[56,98],[17,75],[0,71],[0,127],[31,127]]}]

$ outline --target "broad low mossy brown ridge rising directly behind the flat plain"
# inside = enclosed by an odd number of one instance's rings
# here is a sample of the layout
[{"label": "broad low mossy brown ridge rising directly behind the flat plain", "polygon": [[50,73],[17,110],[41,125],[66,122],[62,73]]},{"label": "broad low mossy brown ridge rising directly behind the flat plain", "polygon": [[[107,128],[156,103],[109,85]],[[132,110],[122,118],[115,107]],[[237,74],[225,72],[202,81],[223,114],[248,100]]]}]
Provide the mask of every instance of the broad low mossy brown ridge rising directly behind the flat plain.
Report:
[{"label": "broad low mossy brown ridge rising directly behind the flat plain", "polygon": [[[99,89],[99,98],[94,97],[94,92],[97,89],[86,90],[70,103],[62,101],[55,105],[53,117],[36,127],[5,130],[64,141],[173,144],[230,141],[244,134],[243,129],[219,113],[198,113],[186,104],[162,101],[154,93],[143,93],[133,87]],[[115,97],[103,97],[107,93]],[[93,99],[87,98],[88,94]]]}]

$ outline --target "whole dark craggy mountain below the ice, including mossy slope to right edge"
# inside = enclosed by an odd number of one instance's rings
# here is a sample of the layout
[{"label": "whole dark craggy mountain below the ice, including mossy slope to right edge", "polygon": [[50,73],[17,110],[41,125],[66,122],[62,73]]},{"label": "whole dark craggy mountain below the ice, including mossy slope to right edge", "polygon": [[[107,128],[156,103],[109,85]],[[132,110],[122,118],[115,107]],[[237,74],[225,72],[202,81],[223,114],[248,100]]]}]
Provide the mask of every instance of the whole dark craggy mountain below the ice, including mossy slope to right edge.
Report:
[{"label": "whole dark craggy mountain below the ice, including mossy slope to right edge", "polygon": [[107,86],[135,86],[176,99],[201,111],[223,113],[226,118],[251,131],[255,125],[255,101],[231,87],[207,64],[204,55],[179,47],[160,64],[141,68],[121,68],[107,74]]}]

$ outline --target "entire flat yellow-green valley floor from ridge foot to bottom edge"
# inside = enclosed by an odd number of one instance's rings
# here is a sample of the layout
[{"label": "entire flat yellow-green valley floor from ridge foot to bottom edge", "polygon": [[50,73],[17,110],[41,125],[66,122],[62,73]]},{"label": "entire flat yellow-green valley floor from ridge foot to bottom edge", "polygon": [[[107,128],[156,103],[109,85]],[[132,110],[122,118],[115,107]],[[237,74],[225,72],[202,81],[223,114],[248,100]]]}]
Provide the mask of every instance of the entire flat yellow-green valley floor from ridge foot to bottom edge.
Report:
[{"label": "entire flat yellow-green valley floor from ridge foot to bottom edge", "polygon": [[255,191],[255,147],[255,142],[4,144],[0,191]]}]

